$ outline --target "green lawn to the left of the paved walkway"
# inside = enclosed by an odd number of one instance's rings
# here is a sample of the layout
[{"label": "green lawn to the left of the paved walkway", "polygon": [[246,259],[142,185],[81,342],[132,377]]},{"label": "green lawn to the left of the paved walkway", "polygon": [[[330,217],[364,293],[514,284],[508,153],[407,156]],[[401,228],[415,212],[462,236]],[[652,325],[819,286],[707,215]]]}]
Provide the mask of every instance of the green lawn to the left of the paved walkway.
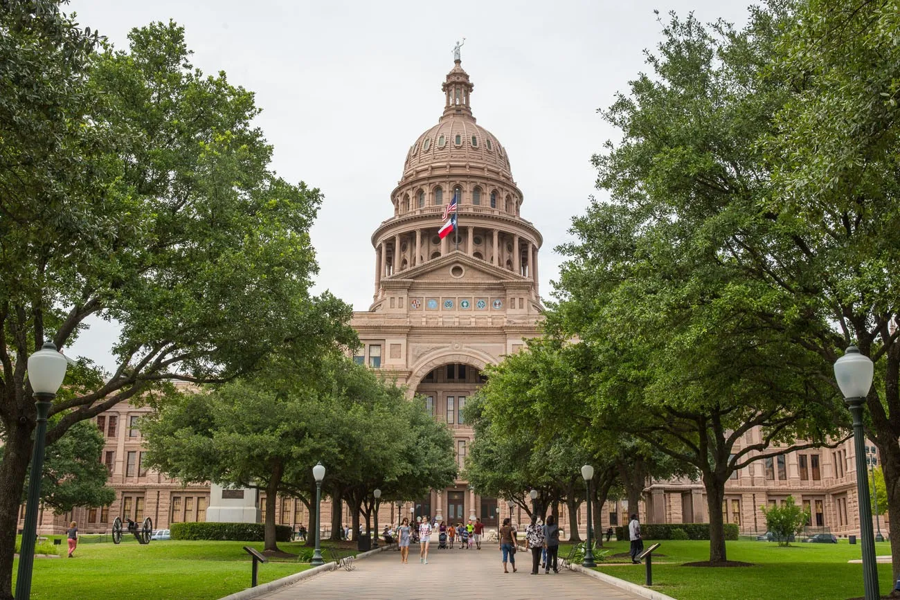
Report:
[{"label": "green lawn to the left of the paved walkway", "polygon": [[[62,543],[63,558],[34,560],[32,600],[220,598],[250,586],[250,559],[242,546],[263,550],[262,542],[166,541],[141,546],[123,539],[118,546],[110,542],[78,544],[76,558],[67,559],[65,540]],[[302,542],[278,544],[282,551],[292,553],[302,546]],[[309,563],[275,559],[259,565],[259,583],[309,568]]]}]

